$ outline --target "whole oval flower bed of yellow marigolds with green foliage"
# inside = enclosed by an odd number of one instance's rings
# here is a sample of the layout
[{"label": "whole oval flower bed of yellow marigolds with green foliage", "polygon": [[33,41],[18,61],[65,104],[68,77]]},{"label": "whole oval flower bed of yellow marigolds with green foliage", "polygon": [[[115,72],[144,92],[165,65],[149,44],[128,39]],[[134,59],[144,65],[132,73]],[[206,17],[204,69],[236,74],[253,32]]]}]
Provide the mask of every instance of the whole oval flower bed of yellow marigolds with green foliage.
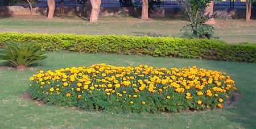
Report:
[{"label": "whole oval flower bed of yellow marigolds with green foliage", "polygon": [[236,90],[224,72],[192,68],[153,68],[139,65],[40,70],[30,77],[29,93],[56,106],[88,111],[158,113],[221,108]]}]

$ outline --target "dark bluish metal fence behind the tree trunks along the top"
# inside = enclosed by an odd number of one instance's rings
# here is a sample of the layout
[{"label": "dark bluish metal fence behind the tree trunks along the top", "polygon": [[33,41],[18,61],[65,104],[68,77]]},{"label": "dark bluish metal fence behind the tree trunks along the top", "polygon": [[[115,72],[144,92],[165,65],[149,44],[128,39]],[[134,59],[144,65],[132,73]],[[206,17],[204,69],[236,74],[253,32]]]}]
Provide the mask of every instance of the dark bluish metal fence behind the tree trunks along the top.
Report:
[{"label": "dark bluish metal fence behind the tree trunks along the top", "polygon": [[[125,6],[134,6],[141,7],[141,0],[130,0],[131,3],[128,5],[125,3],[125,0],[101,0],[101,7],[125,7]],[[150,0],[149,0],[150,1]],[[162,8],[182,8],[180,0],[153,0],[149,3],[152,4],[152,7],[162,7]],[[245,0],[223,0],[222,2],[215,2],[214,9],[245,9]],[[6,3],[4,0],[0,0],[0,6],[28,6],[27,3]],[[38,0],[32,4],[36,6],[47,6],[47,0]],[[90,6],[89,0],[56,0],[56,7],[61,5],[65,7],[71,6]]]}]

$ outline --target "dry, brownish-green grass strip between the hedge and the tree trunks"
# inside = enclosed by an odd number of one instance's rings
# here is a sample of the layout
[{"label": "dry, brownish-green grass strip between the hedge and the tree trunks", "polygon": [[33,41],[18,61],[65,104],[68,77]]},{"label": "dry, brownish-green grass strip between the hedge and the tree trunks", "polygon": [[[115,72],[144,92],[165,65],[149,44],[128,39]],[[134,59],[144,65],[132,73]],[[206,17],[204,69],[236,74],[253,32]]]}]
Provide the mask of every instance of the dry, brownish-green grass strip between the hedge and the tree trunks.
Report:
[{"label": "dry, brownish-green grass strip between the hedge and the tree trunks", "polygon": [[[214,36],[227,43],[256,43],[256,20],[216,19]],[[79,17],[13,16],[0,19],[0,32],[71,33],[86,35],[138,35],[180,37],[186,20],[141,20],[129,16],[100,17],[91,24]]]}]

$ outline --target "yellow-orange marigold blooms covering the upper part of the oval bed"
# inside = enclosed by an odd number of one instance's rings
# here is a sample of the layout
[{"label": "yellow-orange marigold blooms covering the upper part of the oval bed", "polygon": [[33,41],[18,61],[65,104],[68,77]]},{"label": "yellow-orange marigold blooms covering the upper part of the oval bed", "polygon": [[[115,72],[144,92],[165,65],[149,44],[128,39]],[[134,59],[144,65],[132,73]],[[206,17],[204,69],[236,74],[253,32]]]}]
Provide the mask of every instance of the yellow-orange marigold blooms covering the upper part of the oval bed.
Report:
[{"label": "yellow-orange marigold blooms covering the upper part of the oval bed", "polygon": [[[139,97],[139,92],[150,92],[161,94],[165,90],[173,90],[176,93],[184,93],[184,97],[192,99],[195,95],[205,95],[208,97],[217,97],[218,93],[225,93],[233,88],[234,81],[225,76],[225,73],[216,70],[192,68],[153,68],[152,66],[139,65],[133,66],[113,66],[108,64],[93,64],[85,67],[71,67],[65,69],[48,70],[44,72],[40,70],[38,74],[30,77],[30,81],[36,81],[40,88],[50,85],[49,93],[60,93],[63,89],[76,91],[76,97],[81,98],[84,92],[92,93],[93,91],[105,91],[106,95],[129,95],[129,97]],[[209,85],[212,86],[209,89]],[[124,88],[132,88],[134,93],[126,93]],[[196,90],[196,94],[192,95],[191,89]],[[67,91],[67,90],[65,90]],[[65,93],[67,97],[71,97],[71,92]],[[171,94],[166,96],[170,99]],[[218,99],[222,102],[223,99]],[[130,101],[133,104],[133,101]],[[143,105],[146,102],[141,102]],[[203,102],[198,100],[197,104]],[[218,105],[222,107],[222,105]]]}]

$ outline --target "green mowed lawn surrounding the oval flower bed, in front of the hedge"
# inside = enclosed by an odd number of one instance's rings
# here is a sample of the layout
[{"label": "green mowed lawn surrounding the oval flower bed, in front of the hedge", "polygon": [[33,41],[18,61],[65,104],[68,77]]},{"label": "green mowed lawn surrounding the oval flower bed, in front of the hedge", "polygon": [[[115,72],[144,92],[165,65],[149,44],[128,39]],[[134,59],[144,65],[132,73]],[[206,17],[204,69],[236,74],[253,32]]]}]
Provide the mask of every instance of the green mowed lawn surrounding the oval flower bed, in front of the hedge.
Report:
[{"label": "green mowed lawn surrounding the oval flower bed, in front of the hedge", "polygon": [[[23,71],[0,69],[0,128],[254,128],[256,64],[229,61],[172,59],[150,56],[126,56],[48,52],[41,66]],[[0,62],[2,64],[3,61]],[[236,81],[241,101],[222,109],[171,114],[112,114],[38,105],[22,98],[28,90],[28,78],[39,70],[106,63],[116,66],[146,64],[166,68],[196,65],[198,68],[226,72]]]}]

